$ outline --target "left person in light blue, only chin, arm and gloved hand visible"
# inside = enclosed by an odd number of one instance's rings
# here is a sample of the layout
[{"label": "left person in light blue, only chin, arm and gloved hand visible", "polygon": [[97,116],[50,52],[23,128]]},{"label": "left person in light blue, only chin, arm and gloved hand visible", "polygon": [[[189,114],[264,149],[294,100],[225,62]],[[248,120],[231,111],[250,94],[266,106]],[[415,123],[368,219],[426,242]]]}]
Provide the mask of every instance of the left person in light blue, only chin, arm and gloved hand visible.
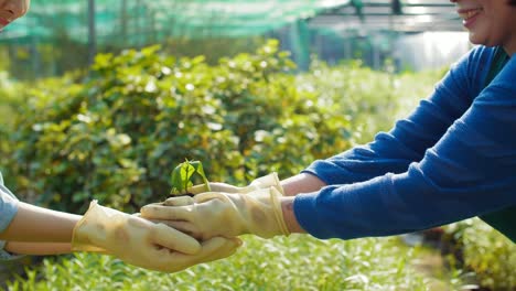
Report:
[{"label": "left person in light blue, only chin, arm and gloved hand visible", "polygon": [[[25,14],[30,0],[0,0],[0,31]],[[92,202],[84,216],[18,201],[0,173],[0,262],[25,255],[92,251],[151,270],[175,272],[235,252],[239,239],[196,239],[163,224]]]}]

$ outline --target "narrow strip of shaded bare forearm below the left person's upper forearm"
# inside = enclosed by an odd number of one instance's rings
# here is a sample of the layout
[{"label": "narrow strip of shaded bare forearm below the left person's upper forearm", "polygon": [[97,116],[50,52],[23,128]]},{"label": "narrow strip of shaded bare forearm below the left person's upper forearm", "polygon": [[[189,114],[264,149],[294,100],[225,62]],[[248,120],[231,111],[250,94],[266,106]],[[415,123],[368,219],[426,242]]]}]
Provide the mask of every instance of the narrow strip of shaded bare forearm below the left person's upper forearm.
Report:
[{"label": "narrow strip of shaded bare forearm below the left person's upper forearm", "polygon": [[72,252],[71,244],[68,242],[23,242],[8,241],[6,250],[19,255],[61,255]]}]

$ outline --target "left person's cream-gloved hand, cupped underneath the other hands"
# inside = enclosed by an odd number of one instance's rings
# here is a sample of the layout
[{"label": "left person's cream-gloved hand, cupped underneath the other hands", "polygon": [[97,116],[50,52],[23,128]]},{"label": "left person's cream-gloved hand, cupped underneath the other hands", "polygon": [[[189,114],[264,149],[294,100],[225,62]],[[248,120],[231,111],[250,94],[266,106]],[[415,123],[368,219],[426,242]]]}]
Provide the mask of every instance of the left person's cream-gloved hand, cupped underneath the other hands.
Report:
[{"label": "left person's cream-gloved hand, cupped underneath the other hands", "polygon": [[151,270],[175,272],[193,265],[230,256],[239,239],[215,237],[203,241],[163,224],[104,207],[93,201],[73,233],[72,250],[114,255]]}]

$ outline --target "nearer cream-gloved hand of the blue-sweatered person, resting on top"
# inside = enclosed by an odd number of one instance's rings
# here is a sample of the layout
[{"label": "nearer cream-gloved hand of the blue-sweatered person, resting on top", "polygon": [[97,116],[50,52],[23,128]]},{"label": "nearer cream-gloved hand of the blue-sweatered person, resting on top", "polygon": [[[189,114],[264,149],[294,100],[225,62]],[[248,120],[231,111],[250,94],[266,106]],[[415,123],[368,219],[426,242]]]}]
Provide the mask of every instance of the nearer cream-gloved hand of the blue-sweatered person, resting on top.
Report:
[{"label": "nearer cream-gloved hand of the blue-sweatered person, resting on top", "polygon": [[193,237],[235,237],[254,234],[264,238],[289,235],[276,187],[247,195],[206,192],[193,197],[168,198],[141,208],[141,216],[173,226]]}]

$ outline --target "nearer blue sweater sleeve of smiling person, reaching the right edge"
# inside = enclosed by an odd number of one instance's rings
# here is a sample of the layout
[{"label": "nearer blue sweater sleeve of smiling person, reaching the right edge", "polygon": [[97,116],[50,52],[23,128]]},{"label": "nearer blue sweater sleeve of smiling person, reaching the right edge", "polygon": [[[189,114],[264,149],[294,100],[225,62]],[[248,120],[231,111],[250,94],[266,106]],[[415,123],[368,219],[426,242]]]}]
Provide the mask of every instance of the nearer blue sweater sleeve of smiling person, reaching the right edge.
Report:
[{"label": "nearer blue sweater sleeve of smiling person, reaching the right edge", "polygon": [[510,60],[407,172],[297,196],[300,225],[319,238],[388,236],[515,205],[515,72]]}]

